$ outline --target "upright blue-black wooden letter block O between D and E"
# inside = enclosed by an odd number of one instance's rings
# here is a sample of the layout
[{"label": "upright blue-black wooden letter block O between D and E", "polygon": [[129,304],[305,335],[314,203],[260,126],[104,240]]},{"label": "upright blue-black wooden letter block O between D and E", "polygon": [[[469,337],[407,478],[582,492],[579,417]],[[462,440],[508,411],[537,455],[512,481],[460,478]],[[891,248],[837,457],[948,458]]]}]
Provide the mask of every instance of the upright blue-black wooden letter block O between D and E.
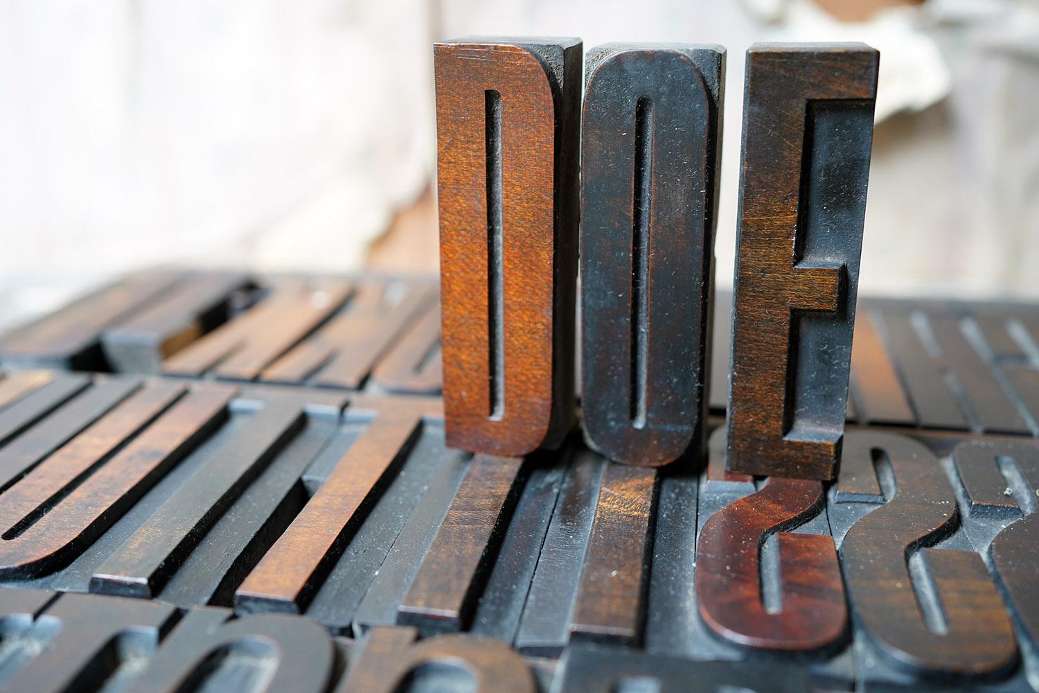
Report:
[{"label": "upright blue-black wooden letter block O between D and E", "polygon": [[586,59],[582,401],[613,461],[703,449],[724,57],[607,44]]}]

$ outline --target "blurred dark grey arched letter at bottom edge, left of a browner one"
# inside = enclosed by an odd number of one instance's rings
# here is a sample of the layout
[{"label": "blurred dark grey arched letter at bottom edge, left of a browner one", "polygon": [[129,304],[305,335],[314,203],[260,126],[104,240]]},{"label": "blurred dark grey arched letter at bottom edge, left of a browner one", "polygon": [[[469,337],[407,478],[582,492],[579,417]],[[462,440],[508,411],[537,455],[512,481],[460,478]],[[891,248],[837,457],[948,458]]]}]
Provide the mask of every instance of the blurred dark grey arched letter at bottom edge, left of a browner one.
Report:
[{"label": "blurred dark grey arched letter at bottom edge, left of a browner one", "polygon": [[[189,611],[129,691],[174,693],[205,686],[322,693],[335,682],[335,648],[319,624],[283,614],[231,616],[227,609]],[[231,654],[239,655],[237,661]]]}]

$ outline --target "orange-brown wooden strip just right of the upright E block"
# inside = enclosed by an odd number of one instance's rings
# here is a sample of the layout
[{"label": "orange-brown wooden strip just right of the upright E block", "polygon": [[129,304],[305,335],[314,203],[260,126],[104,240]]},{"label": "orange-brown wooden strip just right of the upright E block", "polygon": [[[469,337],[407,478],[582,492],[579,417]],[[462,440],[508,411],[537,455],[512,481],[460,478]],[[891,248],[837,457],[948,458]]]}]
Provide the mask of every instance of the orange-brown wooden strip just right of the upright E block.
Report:
[{"label": "orange-brown wooden strip just right of the upright E block", "polygon": [[906,400],[895,364],[865,305],[860,305],[855,314],[851,390],[861,423],[914,423],[912,407]]}]

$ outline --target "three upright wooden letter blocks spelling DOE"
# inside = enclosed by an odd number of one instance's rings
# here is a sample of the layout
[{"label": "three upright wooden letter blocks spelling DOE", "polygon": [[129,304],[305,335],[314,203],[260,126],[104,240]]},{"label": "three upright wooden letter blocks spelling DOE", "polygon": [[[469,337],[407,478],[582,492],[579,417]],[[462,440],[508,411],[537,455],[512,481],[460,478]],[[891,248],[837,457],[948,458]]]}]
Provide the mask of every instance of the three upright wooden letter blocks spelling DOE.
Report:
[{"label": "three upright wooden letter blocks spelling DOE", "polygon": [[[447,439],[518,457],[572,428],[580,265],[588,444],[702,458],[724,50],[594,48],[583,106],[581,54],[435,47]],[[731,472],[836,477],[877,68],[861,44],[747,54]]]}]

